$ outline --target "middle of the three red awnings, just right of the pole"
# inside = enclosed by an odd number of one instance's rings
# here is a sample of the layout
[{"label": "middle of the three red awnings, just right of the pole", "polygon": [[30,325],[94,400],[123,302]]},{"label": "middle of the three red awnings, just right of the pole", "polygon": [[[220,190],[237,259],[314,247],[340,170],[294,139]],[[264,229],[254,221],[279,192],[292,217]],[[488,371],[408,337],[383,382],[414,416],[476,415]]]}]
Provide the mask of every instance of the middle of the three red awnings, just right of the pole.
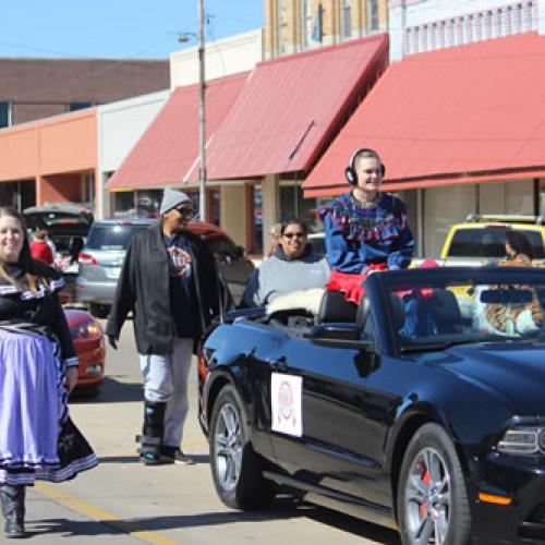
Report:
[{"label": "middle of the three red awnings, just right of the pole", "polygon": [[379,34],[257,64],[209,143],[208,178],[307,171],[387,56]]}]

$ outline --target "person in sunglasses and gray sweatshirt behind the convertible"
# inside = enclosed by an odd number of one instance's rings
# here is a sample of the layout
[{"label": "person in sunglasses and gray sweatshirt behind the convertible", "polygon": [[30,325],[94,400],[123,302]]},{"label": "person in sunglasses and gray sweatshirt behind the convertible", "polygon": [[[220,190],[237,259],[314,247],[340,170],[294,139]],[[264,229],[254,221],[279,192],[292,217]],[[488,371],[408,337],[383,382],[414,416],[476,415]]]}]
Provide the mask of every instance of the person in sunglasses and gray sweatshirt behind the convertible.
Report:
[{"label": "person in sunglasses and gray sweatshirt behind the convertible", "polygon": [[242,295],[241,306],[264,306],[279,295],[324,288],[329,280],[325,257],[316,255],[301,219],[284,221],[275,254],[256,268]]}]

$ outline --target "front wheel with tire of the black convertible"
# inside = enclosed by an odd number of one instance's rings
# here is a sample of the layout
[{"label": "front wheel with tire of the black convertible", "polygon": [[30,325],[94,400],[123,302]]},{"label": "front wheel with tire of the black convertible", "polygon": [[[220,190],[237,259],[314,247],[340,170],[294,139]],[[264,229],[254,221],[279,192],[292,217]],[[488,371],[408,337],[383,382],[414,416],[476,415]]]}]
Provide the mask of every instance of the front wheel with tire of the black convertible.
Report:
[{"label": "front wheel with tire of the black convertible", "polygon": [[452,441],[437,424],[423,425],[403,457],[398,519],[405,545],[470,543],[471,513]]}]

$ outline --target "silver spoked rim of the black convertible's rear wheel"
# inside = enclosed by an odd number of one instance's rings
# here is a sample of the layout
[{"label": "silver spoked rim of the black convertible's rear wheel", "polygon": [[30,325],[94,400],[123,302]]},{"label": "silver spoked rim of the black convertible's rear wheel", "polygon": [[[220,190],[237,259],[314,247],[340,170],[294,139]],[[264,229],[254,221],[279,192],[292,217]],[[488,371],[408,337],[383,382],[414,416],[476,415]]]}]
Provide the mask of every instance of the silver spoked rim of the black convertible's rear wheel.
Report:
[{"label": "silver spoked rim of the black convertible's rear wheel", "polygon": [[226,492],[232,491],[239,482],[242,463],[242,431],[235,407],[226,403],[221,407],[214,434],[216,476]]}]

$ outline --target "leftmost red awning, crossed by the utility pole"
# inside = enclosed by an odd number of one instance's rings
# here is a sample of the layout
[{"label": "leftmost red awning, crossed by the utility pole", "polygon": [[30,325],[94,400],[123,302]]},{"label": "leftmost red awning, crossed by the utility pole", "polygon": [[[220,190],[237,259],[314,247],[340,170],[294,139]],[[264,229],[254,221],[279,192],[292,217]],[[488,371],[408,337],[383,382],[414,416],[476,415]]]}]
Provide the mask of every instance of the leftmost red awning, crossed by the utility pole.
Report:
[{"label": "leftmost red awning, crossed by the utility pole", "polygon": [[[231,108],[247,72],[206,82],[206,131],[209,138]],[[198,175],[198,85],[177,87],[106,189],[181,184]]]}]

